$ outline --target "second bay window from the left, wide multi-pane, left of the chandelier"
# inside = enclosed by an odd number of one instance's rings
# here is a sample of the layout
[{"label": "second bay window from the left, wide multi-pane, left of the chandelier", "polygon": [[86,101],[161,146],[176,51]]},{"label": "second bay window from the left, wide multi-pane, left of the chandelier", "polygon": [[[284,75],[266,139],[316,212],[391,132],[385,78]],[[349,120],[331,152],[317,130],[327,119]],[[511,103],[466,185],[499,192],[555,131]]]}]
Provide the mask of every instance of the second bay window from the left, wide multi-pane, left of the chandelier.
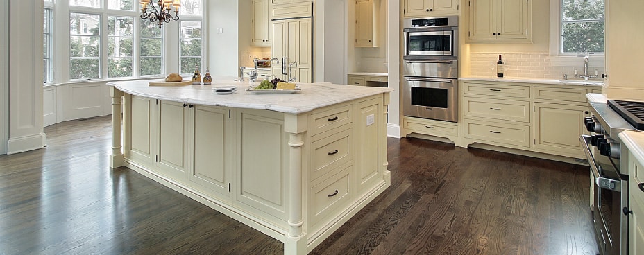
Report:
[{"label": "second bay window from the left, wide multi-pane, left of the chandelier", "polygon": [[69,78],[101,78],[101,15],[71,12],[69,24],[89,26],[87,33],[71,32],[69,35]]}]

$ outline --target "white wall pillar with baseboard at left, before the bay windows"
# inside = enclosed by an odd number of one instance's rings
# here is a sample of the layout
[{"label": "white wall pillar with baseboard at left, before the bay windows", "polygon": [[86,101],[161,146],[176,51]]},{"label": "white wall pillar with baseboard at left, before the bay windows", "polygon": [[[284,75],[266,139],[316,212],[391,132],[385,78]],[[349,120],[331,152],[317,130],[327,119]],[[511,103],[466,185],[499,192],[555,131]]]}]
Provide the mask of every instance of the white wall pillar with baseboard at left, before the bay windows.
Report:
[{"label": "white wall pillar with baseboard at left, before the bay windows", "polygon": [[42,148],[42,1],[9,4],[8,153]]}]

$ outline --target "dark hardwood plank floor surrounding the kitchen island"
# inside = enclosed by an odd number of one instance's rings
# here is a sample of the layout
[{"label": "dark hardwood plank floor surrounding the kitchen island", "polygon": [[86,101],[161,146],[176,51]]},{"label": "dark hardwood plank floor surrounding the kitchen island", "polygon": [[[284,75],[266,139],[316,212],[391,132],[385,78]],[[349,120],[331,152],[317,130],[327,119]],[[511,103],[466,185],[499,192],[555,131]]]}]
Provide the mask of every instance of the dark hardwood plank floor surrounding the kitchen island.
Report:
[{"label": "dark hardwood plank floor surrounding the kitchen island", "polygon": [[[128,168],[111,116],[0,156],[0,254],[281,254],[282,244]],[[588,167],[388,139],[392,185],[311,254],[597,254]]]}]

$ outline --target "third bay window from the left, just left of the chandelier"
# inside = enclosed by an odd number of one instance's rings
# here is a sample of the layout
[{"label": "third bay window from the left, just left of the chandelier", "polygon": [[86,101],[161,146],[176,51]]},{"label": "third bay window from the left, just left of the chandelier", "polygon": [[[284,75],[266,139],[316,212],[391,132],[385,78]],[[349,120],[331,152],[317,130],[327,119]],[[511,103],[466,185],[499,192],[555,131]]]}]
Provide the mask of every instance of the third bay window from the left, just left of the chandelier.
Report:
[{"label": "third bay window from the left, just left of the chandelier", "polygon": [[108,17],[108,77],[132,77],[133,18]]}]

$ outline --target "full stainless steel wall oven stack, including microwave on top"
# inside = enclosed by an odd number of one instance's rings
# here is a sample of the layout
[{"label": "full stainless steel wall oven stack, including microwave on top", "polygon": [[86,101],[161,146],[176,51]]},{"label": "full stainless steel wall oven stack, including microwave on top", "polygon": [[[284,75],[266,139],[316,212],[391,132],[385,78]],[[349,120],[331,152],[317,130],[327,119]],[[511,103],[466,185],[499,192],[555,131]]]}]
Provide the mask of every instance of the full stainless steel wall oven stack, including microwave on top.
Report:
[{"label": "full stainless steel wall oven stack, including microwave on top", "polygon": [[458,16],[405,19],[402,113],[458,121]]}]

